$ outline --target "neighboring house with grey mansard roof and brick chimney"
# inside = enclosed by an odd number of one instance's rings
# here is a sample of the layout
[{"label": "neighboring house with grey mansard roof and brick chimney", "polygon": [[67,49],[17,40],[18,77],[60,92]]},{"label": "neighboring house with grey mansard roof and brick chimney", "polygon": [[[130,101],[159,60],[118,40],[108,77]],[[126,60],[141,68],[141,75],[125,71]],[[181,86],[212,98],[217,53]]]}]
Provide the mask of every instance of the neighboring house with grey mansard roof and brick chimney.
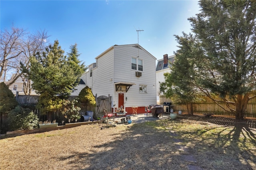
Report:
[{"label": "neighboring house with grey mansard roof and brick chimney", "polygon": [[157,98],[159,99],[158,104],[163,104],[164,102],[171,102],[170,99],[166,99],[160,93],[160,83],[164,82],[164,73],[170,72],[171,63],[174,62],[175,55],[168,57],[168,54],[164,55],[163,59],[157,61],[156,64],[156,91]]}]

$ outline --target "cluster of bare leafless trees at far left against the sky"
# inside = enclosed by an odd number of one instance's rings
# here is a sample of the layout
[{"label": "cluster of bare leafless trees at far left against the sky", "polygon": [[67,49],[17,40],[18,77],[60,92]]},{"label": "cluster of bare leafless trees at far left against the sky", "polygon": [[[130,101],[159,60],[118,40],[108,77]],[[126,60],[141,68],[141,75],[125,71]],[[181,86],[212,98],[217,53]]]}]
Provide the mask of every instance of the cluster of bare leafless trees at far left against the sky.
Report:
[{"label": "cluster of bare leafless trees at far left against the sky", "polygon": [[46,31],[37,31],[34,34],[30,34],[24,29],[16,27],[1,31],[1,82],[5,82],[7,86],[10,86],[21,77],[24,93],[29,95],[31,93],[31,81],[27,79],[26,74],[21,72],[21,64],[24,68],[29,69],[30,57],[45,49],[47,39]]}]

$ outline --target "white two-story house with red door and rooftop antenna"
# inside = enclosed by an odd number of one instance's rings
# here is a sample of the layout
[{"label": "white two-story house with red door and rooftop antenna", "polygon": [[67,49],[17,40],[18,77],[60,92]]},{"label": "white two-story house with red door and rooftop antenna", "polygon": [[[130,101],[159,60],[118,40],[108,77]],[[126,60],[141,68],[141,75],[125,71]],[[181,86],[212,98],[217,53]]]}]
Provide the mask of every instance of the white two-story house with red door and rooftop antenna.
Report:
[{"label": "white two-story house with red door and rooftop antenna", "polygon": [[145,106],[156,104],[156,58],[140,45],[114,45],[95,59],[81,79],[94,95],[111,96],[112,109],[145,113]]}]

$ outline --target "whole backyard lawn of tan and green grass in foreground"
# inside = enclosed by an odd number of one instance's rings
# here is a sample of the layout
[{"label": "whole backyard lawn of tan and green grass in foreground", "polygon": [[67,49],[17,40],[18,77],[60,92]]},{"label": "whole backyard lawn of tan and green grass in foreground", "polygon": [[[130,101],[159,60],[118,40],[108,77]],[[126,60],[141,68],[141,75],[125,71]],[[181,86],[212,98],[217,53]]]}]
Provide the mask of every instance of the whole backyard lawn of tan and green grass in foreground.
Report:
[{"label": "whole backyard lawn of tan and green grass in foreground", "polygon": [[1,170],[256,170],[256,129],[243,123],[81,125],[1,139],[0,149]]}]

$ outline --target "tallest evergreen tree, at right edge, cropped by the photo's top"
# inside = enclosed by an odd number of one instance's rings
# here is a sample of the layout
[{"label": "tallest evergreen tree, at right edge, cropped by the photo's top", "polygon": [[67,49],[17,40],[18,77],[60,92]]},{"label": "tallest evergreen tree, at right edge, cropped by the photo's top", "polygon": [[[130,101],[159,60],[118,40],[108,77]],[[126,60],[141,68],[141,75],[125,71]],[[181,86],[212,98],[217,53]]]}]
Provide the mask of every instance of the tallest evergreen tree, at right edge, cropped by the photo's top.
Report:
[{"label": "tallest evergreen tree, at right edge, cropped by the photo's top", "polygon": [[[256,1],[201,0],[200,14],[189,18],[204,55],[195,56],[198,87],[243,119],[249,92],[256,88]],[[218,103],[217,103],[218,104]]]}]

